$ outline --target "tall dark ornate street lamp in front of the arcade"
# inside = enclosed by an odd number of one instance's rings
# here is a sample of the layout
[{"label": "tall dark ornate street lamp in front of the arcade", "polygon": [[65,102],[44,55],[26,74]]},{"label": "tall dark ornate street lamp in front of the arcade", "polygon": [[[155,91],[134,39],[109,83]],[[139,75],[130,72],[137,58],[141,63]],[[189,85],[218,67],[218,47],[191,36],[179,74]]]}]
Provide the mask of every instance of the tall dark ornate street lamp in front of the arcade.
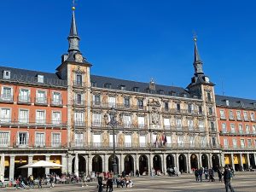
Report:
[{"label": "tall dark ornate street lamp in front of the arcade", "polygon": [[107,125],[112,127],[113,131],[113,175],[117,174],[117,164],[116,164],[116,158],[115,158],[115,137],[114,137],[114,128],[119,125],[119,122],[116,120],[116,110],[114,108],[111,108],[109,111],[110,121],[108,122],[108,115],[104,115],[104,119]]}]

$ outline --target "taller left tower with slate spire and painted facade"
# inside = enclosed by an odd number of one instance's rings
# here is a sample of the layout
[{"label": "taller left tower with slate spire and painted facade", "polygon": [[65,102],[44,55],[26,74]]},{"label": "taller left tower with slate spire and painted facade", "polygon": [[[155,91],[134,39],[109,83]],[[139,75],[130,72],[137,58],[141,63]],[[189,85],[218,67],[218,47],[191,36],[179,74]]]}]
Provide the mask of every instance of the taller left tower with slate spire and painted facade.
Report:
[{"label": "taller left tower with slate spire and painted facade", "polygon": [[[69,30],[67,54],[62,55],[56,68],[61,79],[67,80],[67,131],[68,143],[76,148],[75,138],[83,146],[90,142],[90,67],[79,49],[79,33],[75,20],[75,7]],[[86,141],[86,143],[85,143]],[[68,170],[72,172],[72,170]],[[74,170],[78,175],[78,170]]]}]

